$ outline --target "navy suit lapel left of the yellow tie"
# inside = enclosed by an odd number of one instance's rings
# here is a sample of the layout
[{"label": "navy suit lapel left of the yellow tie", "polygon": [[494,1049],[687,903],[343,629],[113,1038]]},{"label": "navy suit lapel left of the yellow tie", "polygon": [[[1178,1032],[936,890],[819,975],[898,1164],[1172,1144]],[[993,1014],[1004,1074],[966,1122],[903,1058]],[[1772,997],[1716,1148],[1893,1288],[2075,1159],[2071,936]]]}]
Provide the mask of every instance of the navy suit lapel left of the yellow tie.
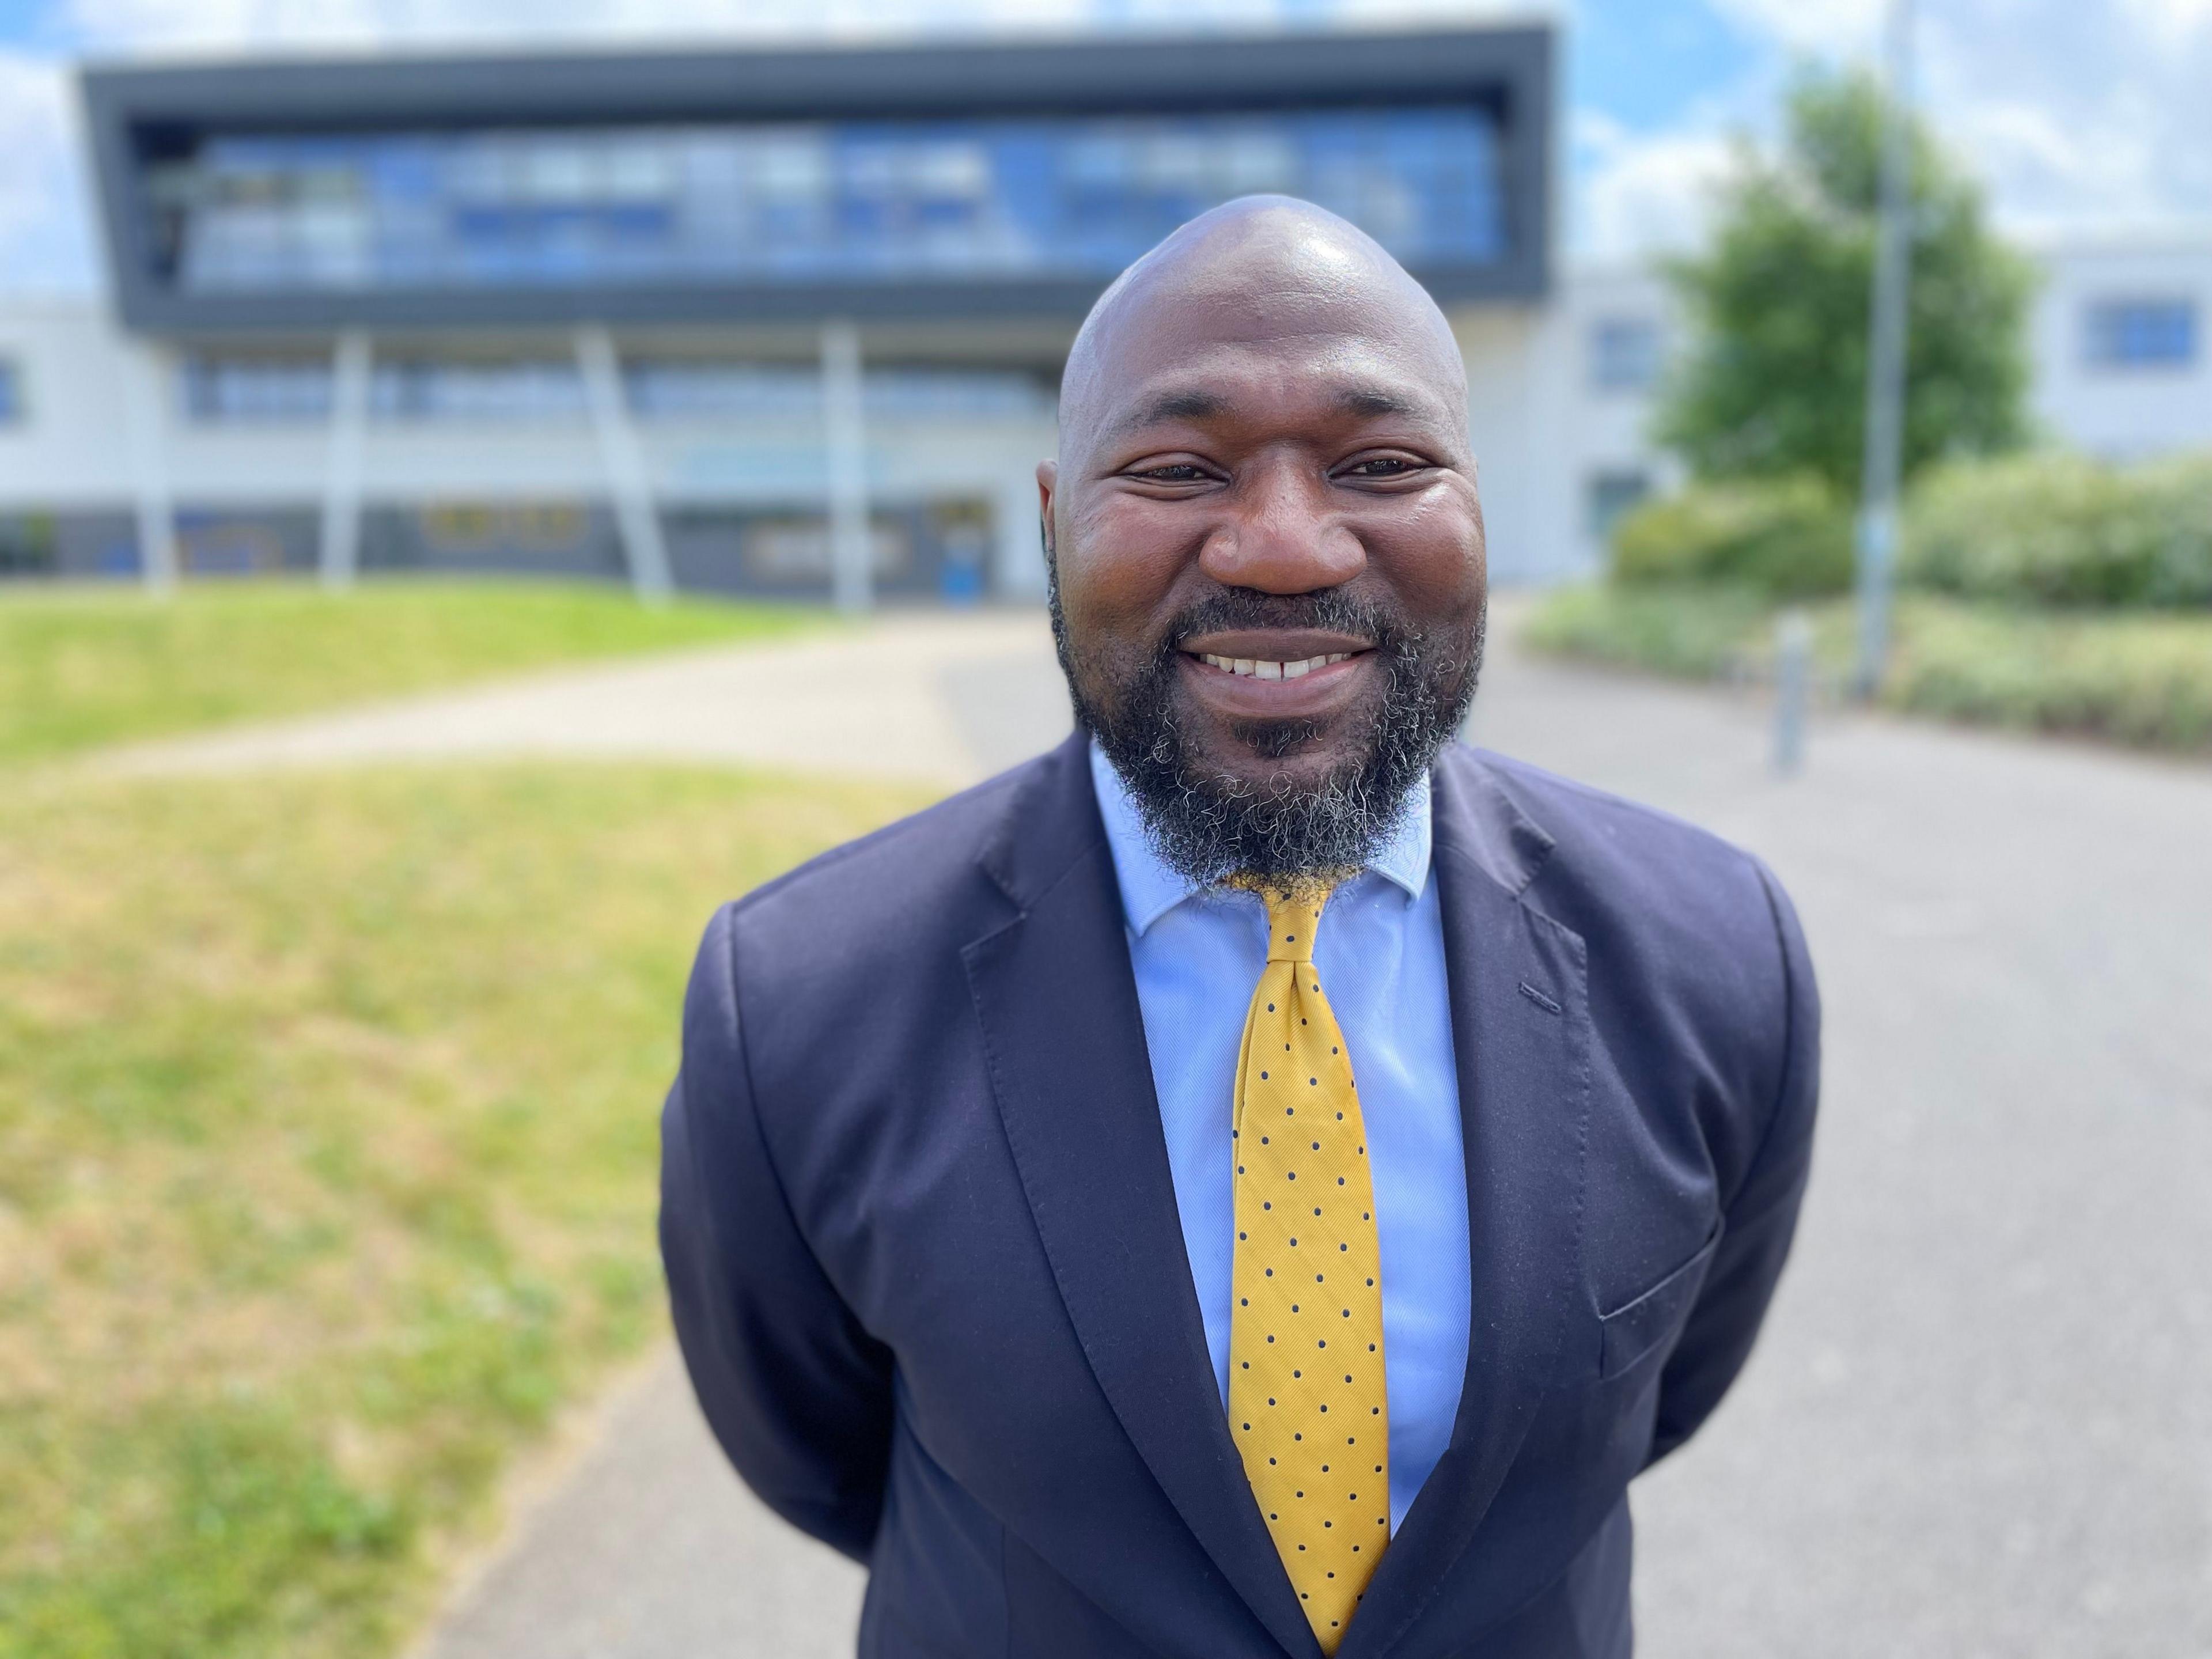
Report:
[{"label": "navy suit lapel left of the yellow tie", "polygon": [[1214,1391],[1082,739],[1044,761],[984,867],[1020,914],[962,958],[1006,1141],[1084,1356],[1223,1577],[1287,1652],[1318,1659]]}]

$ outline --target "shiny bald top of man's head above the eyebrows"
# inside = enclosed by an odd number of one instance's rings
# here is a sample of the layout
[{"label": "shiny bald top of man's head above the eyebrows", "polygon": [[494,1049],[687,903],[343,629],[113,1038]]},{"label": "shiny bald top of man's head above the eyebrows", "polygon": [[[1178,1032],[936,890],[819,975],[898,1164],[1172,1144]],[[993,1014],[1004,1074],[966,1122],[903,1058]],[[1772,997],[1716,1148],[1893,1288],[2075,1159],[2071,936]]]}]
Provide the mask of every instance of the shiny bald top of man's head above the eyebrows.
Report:
[{"label": "shiny bald top of man's head above the eyebrows", "polygon": [[[1451,325],[1405,265],[1358,226],[1294,197],[1241,197],[1203,212],[1121,272],[1068,349],[1060,458],[1203,392],[1208,358],[1274,356],[1420,400],[1467,440],[1467,367]],[[1186,396],[1183,403],[1192,398]]]}]

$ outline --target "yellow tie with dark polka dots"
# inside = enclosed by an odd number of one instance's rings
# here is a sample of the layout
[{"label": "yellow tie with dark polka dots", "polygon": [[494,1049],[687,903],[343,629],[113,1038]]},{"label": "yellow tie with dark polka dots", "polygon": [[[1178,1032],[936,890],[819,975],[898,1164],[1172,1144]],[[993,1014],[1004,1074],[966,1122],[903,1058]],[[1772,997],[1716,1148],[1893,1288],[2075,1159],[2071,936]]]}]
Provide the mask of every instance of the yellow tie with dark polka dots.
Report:
[{"label": "yellow tie with dark polka dots", "polygon": [[1237,1066],[1230,1431],[1321,1650],[1389,1548],[1383,1267],[1345,1033],[1314,971],[1325,885],[1267,902]]}]

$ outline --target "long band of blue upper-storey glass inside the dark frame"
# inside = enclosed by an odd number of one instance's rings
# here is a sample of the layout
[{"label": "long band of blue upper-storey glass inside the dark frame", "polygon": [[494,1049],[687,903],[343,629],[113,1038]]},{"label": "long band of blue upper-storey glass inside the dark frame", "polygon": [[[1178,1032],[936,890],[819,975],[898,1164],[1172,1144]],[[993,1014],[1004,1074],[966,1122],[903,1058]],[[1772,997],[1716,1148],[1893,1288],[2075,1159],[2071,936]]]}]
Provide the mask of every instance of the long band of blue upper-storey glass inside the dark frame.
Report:
[{"label": "long band of blue upper-storey glass inside the dark frame", "polygon": [[217,135],[153,177],[188,292],[1113,276],[1283,190],[1411,265],[1504,252],[1473,106]]}]

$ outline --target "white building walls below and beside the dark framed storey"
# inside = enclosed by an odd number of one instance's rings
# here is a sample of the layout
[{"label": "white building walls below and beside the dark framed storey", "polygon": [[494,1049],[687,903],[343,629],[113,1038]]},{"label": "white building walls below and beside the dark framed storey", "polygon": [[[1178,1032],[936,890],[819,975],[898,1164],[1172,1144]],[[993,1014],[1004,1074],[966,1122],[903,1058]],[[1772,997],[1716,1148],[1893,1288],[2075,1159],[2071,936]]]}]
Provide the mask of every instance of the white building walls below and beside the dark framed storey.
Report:
[{"label": "white building walls below and beside the dark framed storey", "polygon": [[[2031,349],[2042,429],[2115,460],[2212,449],[2212,241],[2057,248],[2042,254]],[[2088,314],[2110,301],[2188,301],[2185,363],[2112,365],[2088,349]],[[1679,469],[1648,438],[1655,374],[1679,338],[1668,292],[1648,270],[1568,274],[1542,305],[1451,314],[1467,358],[1469,429],[1480,467],[1491,575],[1500,586],[1586,575],[1604,560],[1604,509]],[[1621,374],[1621,341],[1648,327],[1650,374]],[[1608,345],[1610,343],[1610,345]],[[566,341],[549,341],[557,354]],[[24,416],[0,422],[0,513],[133,509],[126,385],[161,347],[124,336],[91,303],[0,312],[0,361],[15,367]],[[1635,356],[1635,354],[1630,354]],[[1630,363],[1630,367],[1635,367]],[[810,420],[639,420],[661,507],[816,509],[823,438]],[[325,422],[186,420],[161,400],[159,447],[179,511],[314,511],[330,467]],[[1053,453],[1048,403],[1031,414],[872,418],[867,471],[883,502],[978,500],[993,513],[993,588],[1042,595],[1033,469]],[[372,420],[363,500],[604,500],[602,456],[582,411],[551,420]]]}]

